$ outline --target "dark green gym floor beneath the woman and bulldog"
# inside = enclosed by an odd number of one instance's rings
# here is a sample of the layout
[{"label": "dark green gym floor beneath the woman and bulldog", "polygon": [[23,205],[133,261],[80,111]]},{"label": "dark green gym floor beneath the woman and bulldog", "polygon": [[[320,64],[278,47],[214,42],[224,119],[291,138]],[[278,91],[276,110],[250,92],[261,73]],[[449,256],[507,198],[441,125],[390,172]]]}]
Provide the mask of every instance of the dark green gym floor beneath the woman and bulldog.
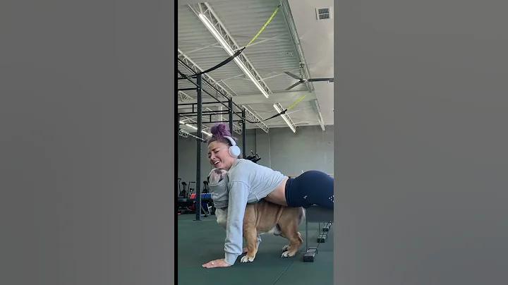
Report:
[{"label": "dark green gym floor beneath the woman and bulldog", "polygon": [[[224,229],[215,216],[202,217],[193,221],[195,214],[178,216],[178,284],[221,284],[221,285],[294,285],[333,284],[333,228],[327,241],[319,245],[314,262],[303,262],[305,254],[305,222],[300,226],[304,245],[294,257],[282,258],[282,247],[288,244],[285,238],[264,234],[254,262],[241,263],[236,260],[233,267],[205,269],[201,265],[224,256]],[[321,226],[323,224],[321,223]],[[318,224],[309,223],[309,246],[317,245]],[[245,245],[244,245],[245,246]]]}]

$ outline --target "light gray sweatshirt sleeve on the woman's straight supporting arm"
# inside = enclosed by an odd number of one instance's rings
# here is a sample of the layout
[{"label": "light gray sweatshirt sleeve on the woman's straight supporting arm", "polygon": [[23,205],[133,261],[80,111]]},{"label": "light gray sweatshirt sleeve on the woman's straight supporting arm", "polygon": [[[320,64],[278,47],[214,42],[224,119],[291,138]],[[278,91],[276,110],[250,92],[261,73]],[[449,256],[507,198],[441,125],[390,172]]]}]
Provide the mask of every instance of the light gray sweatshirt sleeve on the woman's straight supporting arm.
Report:
[{"label": "light gray sweatshirt sleeve on the woman's straight supporting arm", "polygon": [[231,182],[229,187],[228,217],[226,225],[225,261],[234,265],[242,254],[243,216],[247,206],[249,187],[243,182]]}]

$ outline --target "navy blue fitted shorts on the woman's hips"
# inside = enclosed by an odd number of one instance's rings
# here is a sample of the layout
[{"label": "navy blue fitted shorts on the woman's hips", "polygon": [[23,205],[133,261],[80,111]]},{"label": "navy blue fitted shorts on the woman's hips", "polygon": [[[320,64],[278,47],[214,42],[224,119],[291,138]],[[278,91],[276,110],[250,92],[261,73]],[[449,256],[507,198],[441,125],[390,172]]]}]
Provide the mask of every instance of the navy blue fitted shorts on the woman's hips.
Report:
[{"label": "navy blue fitted shorts on the woman's hips", "polygon": [[286,182],[286,201],[289,207],[334,207],[334,178],[322,171],[306,171]]}]

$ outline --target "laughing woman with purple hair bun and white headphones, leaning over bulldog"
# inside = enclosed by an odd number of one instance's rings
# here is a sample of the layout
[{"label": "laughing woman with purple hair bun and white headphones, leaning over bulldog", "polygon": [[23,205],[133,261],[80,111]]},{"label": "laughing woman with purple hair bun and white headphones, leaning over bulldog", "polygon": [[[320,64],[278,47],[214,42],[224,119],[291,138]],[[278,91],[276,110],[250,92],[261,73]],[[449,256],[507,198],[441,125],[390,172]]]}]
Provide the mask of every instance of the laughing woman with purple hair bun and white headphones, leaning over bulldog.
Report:
[{"label": "laughing woman with purple hair bun and white headphones, leaning over bulldog", "polygon": [[238,159],[240,148],[224,123],[213,126],[210,131],[212,132],[212,137],[208,140],[210,164],[214,168],[228,171],[224,191],[228,203],[224,244],[226,256],[207,262],[202,267],[230,267],[243,253],[243,214],[247,203],[265,199],[289,207],[320,205],[333,208],[334,179],[331,176],[321,171],[306,171],[296,178],[288,178],[279,171],[255,164],[248,159]]}]

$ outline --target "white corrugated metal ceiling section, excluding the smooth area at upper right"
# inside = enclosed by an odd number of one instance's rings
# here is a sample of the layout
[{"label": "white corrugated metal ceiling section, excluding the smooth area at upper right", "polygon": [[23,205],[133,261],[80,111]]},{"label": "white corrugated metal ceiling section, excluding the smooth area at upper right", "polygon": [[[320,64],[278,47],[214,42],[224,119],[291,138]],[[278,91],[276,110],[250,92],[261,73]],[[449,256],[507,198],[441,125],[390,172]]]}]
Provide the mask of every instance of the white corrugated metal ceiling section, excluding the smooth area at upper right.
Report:
[{"label": "white corrugated metal ceiling section, excluding the smooth area at upper right", "polygon": [[[209,6],[205,6],[205,4],[179,6],[177,44],[179,51],[183,53],[183,55],[179,55],[179,59],[185,59],[189,66],[193,68],[198,66],[203,71],[216,66],[229,57],[229,54],[219,44],[210,30],[206,28],[196,13],[203,13],[207,10],[213,11],[213,14],[210,15],[213,15],[219,21],[219,25],[227,30],[229,37],[236,42],[238,47],[244,47],[265,25],[279,4],[280,1],[274,0],[220,0],[208,3]],[[246,108],[249,110],[250,116],[257,116],[260,120],[277,114],[273,107],[274,103],[279,103],[282,107],[289,107],[298,98],[307,94],[308,97],[305,100],[288,111],[289,118],[295,126],[320,125],[317,108],[313,101],[316,98],[316,92],[309,92],[306,84],[298,85],[289,92],[285,91],[287,87],[298,80],[286,75],[284,71],[301,76],[301,59],[298,56],[296,44],[291,37],[289,23],[286,21],[282,9],[274,16],[258,39],[243,51],[242,56],[248,59],[250,66],[259,75],[260,82],[270,91],[268,92],[270,94],[268,99],[262,95],[262,92],[243,73],[235,61],[230,61],[226,65],[207,73],[209,77],[207,81],[219,86],[219,90],[222,90],[224,95],[231,96],[233,102],[248,103]],[[178,68],[186,75],[192,74],[181,63],[179,63]],[[192,80],[195,82],[195,79]],[[195,87],[188,80],[178,80],[178,86],[179,89]],[[217,94],[214,88],[205,84],[202,87],[206,92],[213,95]],[[195,102],[195,97],[195,90],[183,91],[179,94],[182,103]],[[210,97],[203,94],[203,101],[210,101]],[[217,104],[203,106],[207,108],[206,110],[219,109]],[[179,109],[179,112],[182,111],[190,110]],[[238,109],[235,109],[235,111],[238,111]],[[195,116],[188,116],[188,119],[196,121]],[[227,119],[226,115],[224,119]],[[234,119],[239,118],[235,116]],[[203,119],[203,121],[207,120]],[[288,127],[281,116],[264,121],[264,124],[270,128]],[[209,127],[210,124],[204,124],[203,126],[205,129]],[[260,128],[260,124],[247,123],[246,128]],[[189,128],[188,131],[193,131],[193,128]]]}]

